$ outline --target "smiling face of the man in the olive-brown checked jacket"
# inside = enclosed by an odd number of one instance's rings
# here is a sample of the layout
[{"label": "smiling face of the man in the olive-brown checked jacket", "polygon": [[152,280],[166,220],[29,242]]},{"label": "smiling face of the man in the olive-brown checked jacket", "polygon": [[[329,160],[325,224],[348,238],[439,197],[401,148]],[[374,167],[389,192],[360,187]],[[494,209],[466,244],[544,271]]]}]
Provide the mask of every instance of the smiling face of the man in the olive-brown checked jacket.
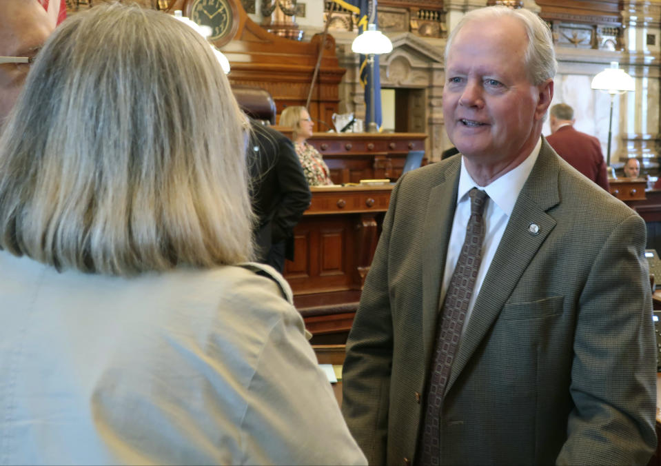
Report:
[{"label": "smiling face of the man in the olive-brown checked jacket", "polygon": [[553,81],[529,81],[526,46],[522,24],[509,17],[471,21],[454,38],[443,90],[445,128],[471,163],[522,161],[539,139]]}]

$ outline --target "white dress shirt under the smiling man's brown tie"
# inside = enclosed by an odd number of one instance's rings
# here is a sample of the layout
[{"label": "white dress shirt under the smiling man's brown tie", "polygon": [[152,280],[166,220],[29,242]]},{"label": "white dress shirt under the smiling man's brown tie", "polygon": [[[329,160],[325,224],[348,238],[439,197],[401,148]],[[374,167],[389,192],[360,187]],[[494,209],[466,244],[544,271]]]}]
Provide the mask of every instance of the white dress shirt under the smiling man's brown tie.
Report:
[{"label": "white dress shirt under the smiling man's brown tie", "polygon": [[473,188],[485,190],[489,199],[485,202],[485,241],[482,245],[482,262],[480,263],[480,270],[478,271],[478,278],[473,288],[473,294],[468,304],[466,318],[462,328],[465,332],[467,323],[473,312],[475,300],[480,293],[482,281],[484,281],[491,261],[494,259],[494,254],[500,244],[502,234],[505,232],[505,227],[509,222],[516,199],[518,199],[519,192],[525,184],[528,176],[537,161],[537,156],[542,147],[542,139],[538,141],[537,145],[531,154],[522,162],[518,167],[510,170],[506,174],[498,177],[487,186],[478,186],[478,184],[471,178],[471,175],[466,170],[464,164],[464,156],[461,156],[461,173],[459,175],[459,191],[457,194],[457,208],[454,212],[454,221],[452,223],[452,232],[450,234],[450,241],[447,246],[447,258],[445,259],[445,274],[443,275],[443,287],[440,290],[441,302],[445,300],[445,292],[450,285],[454,267],[456,267],[461,247],[464,244],[466,237],[466,227],[468,220],[471,216],[471,199],[468,192]]}]

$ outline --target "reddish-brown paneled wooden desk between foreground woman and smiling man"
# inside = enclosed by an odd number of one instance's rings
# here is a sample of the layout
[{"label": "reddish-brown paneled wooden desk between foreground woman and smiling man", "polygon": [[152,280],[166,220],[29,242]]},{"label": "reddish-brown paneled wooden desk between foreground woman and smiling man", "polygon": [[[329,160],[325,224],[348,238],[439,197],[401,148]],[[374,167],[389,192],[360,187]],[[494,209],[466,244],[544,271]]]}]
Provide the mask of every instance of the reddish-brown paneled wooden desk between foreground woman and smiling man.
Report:
[{"label": "reddish-brown paneled wooden desk between foreground woman and smiling man", "polygon": [[311,191],[310,207],[294,228],[294,261],[287,261],[284,276],[307,330],[315,336],[347,333],[392,185],[324,186]]}]

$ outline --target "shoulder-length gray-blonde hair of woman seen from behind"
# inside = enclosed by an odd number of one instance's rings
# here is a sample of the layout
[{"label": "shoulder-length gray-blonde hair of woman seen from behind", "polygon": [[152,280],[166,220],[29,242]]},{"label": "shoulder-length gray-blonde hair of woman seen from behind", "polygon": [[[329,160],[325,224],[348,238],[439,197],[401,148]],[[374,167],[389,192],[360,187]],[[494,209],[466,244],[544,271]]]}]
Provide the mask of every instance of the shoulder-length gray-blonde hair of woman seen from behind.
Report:
[{"label": "shoulder-length gray-blonde hair of woman seen from behind", "polygon": [[76,14],[0,138],[0,247],[119,275],[250,259],[241,124],[189,26],[119,3]]}]

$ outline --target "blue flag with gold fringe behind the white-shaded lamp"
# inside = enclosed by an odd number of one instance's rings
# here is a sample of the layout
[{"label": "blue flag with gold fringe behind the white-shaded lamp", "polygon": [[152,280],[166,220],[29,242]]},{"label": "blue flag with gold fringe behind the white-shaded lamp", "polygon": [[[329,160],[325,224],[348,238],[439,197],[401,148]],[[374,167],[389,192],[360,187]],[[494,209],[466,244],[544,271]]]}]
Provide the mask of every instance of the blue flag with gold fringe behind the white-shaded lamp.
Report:
[{"label": "blue flag with gold fringe behind the white-shaded lamp", "polygon": [[[358,14],[358,34],[367,30],[368,23],[378,24],[376,21],[376,0],[333,0],[342,8]],[[371,5],[370,5],[371,3]],[[374,55],[374,79],[369,79],[371,72],[367,57],[360,55],[360,84],[365,90],[365,125],[372,121],[370,102],[372,101],[372,88],[374,83],[374,122],[381,128],[381,78],[379,74],[378,55]]]}]

